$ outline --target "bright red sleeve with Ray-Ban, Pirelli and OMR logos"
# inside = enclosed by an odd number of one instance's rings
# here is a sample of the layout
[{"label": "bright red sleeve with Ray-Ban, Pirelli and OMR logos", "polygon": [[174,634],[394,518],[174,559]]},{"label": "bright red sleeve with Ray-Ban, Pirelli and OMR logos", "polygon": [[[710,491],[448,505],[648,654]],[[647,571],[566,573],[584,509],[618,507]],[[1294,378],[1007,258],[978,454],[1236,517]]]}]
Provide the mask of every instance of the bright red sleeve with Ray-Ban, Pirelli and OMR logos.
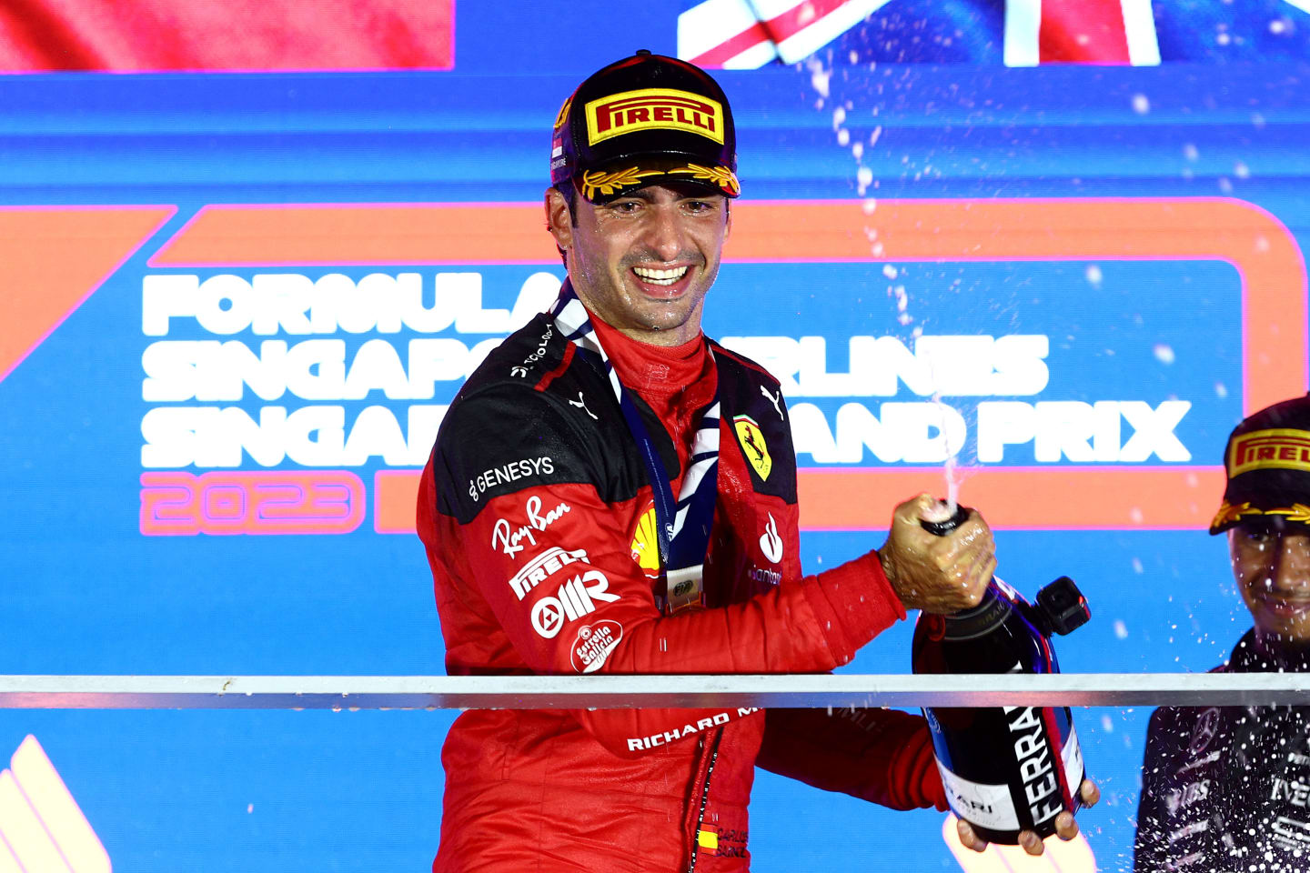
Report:
[{"label": "bright red sleeve with Ray-Ban, Pirelli and OMR logos", "polygon": [[[444,548],[461,554],[536,673],[821,673],[905,615],[870,554],[741,603],[664,616],[631,559],[629,517],[593,487],[562,483],[493,497],[465,525],[441,522]],[[650,737],[714,715],[597,709],[578,717],[612,751],[631,754],[650,747]]]}]

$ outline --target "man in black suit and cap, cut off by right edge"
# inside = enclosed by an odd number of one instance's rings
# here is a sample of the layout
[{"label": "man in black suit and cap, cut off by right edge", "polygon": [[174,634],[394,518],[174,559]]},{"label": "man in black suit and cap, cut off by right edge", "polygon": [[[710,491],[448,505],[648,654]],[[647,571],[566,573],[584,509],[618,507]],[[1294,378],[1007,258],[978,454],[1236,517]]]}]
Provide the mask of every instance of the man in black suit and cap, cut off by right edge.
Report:
[{"label": "man in black suit and cap, cut off by right edge", "polygon": [[[1310,397],[1239,424],[1210,533],[1227,531],[1251,611],[1221,671],[1310,669]],[[1310,870],[1310,708],[1161,707],[1137,813],[1137,870]]]}]

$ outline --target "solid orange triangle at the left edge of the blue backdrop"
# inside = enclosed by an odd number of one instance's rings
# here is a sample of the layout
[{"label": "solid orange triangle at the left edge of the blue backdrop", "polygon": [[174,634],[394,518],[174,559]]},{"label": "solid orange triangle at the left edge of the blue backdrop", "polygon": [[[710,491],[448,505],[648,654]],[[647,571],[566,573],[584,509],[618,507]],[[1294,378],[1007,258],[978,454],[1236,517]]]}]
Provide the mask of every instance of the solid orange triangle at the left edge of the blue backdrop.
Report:
[{"label": "solid orange triangle at the left edge of the blue backdrop", "polygon": [[170,205],[0,207],[0,381],[176,212]]}]

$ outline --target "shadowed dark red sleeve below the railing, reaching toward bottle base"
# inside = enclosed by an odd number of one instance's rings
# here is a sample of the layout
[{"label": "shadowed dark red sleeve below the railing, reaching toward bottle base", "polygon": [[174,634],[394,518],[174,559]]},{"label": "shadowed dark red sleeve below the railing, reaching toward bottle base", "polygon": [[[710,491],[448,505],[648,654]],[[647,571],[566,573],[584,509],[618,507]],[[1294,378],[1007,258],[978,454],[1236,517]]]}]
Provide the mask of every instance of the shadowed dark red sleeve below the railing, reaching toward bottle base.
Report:
[{"label": "shadowed dark red sleeve below the railing, reaching toward bottle base", "polygon": [[897,709],[769,709],[756,763],[892,809],[947,809],[927,722]]}]

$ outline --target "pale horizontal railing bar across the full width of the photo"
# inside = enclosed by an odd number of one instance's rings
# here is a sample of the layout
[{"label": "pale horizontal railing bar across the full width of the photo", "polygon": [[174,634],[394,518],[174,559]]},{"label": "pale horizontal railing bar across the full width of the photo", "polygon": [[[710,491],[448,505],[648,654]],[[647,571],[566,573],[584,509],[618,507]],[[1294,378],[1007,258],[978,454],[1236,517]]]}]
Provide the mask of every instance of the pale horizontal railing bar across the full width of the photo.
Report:
[{"label": "pale horizontal railing bar across the full width of the photo", "polygon": [[554,709],[1310,704],[1305,673],[0,675],[4,709]]}]

